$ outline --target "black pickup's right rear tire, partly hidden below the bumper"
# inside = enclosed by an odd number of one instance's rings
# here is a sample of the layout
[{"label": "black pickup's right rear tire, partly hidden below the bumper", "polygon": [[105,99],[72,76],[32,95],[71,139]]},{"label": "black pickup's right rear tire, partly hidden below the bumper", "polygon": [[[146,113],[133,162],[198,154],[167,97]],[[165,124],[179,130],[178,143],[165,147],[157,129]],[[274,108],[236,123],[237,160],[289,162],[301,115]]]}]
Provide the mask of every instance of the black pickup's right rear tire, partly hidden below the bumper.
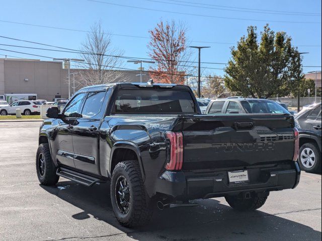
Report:
[{"label": "black pickup's right rear tire, partly hidden below the bumper", "polygon": [[227,196],[225,199],[229,206],[237,211],[251,211],[262,207],[267,200],[267,196],[258,197],[257,194],[253,193],[249,199],[240,198],[238,196]]}]

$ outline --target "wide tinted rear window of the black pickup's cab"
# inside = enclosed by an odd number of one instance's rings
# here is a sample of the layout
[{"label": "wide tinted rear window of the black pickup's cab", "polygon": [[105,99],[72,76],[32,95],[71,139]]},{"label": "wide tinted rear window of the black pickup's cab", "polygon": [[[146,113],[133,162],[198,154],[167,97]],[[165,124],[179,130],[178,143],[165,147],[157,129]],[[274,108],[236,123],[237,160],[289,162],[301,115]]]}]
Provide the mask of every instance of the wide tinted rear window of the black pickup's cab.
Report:
[{"label": "wide tinted rear window of the black pickup's cab", "polygon": [[114,103],[113,113],[195,113],[188,91],[158,89],[121,89]]}]

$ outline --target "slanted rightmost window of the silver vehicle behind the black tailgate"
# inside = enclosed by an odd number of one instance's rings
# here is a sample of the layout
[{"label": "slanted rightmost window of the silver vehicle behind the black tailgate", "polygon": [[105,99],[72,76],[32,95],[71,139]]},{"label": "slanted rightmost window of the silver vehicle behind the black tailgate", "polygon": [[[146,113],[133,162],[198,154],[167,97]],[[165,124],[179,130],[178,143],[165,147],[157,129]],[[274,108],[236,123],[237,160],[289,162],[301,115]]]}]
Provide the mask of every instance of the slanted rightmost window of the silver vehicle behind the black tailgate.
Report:
[{"label": "slanted rightmost window of the silver vehicle behind the black tailgate", "polygon": [[287,109],[285,109],[280,104],[276,103],[272,100],[242,100],[240,101],[241,105],[243,105],[246,113],[253,114],[289,114]]}]

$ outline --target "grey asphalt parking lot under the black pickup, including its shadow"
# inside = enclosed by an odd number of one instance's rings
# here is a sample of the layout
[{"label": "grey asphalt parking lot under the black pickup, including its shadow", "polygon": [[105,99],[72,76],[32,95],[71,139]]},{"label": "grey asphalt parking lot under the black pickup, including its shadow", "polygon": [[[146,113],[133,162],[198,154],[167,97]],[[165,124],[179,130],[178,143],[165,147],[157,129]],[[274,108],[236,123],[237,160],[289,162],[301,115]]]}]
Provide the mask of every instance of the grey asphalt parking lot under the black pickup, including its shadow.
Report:
[{"label": "grey asphalt parking lot under the black pickup, including its shadow", "polygon": [[39,126],[0,122],[0,240],[321,240],[321,175],[304,172],[296,189],[272,192],[258,211],[236,212],[224,198],[197,200],[198,207],[155,210],[145,227],[124,228],[109,183],[39,185]]}]

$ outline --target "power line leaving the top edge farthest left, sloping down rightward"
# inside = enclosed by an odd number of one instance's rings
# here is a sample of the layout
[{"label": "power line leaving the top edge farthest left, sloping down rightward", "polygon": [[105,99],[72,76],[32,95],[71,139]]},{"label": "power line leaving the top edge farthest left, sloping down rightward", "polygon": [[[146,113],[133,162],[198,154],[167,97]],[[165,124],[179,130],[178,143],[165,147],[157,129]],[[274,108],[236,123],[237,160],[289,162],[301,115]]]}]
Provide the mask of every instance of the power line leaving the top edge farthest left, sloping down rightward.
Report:
[{"label": "power line leaving the top edge farthest left, sloping down rightward", "polygon": [[118,7],[132,8],[132,9],[141,9],[141,10],[148,10],[148,11],[154,11],[154,12],[181,14],[181,15],[189,15],[189,16],[196,16],[196,17],[206,17],[206,18],[215,18],[215,19],[258,21],[258,22],[266,22],[266,23],[267,22],[271,22],[271,23],[291,23],[291,24],[320,24],[321,23],[321,22],[297,22],[297,21],[277,21],[277,20],[258,20],[258,19],[219,17],[219,16],[212,16],[212,15],[190,14],[190,13],[181,13],[181,12],[174,12],[174,11],[159,10],[159,9],[149,9],[149,8],[135,7],[135,6],[129,6],[129,5],[113,4],[113,3],[108,3],[108,2],[98,1],[98,0],[87,0],[87,1],[88,2],[93,2],[93,3],[108,4],[108,5],[118,6]]}]

